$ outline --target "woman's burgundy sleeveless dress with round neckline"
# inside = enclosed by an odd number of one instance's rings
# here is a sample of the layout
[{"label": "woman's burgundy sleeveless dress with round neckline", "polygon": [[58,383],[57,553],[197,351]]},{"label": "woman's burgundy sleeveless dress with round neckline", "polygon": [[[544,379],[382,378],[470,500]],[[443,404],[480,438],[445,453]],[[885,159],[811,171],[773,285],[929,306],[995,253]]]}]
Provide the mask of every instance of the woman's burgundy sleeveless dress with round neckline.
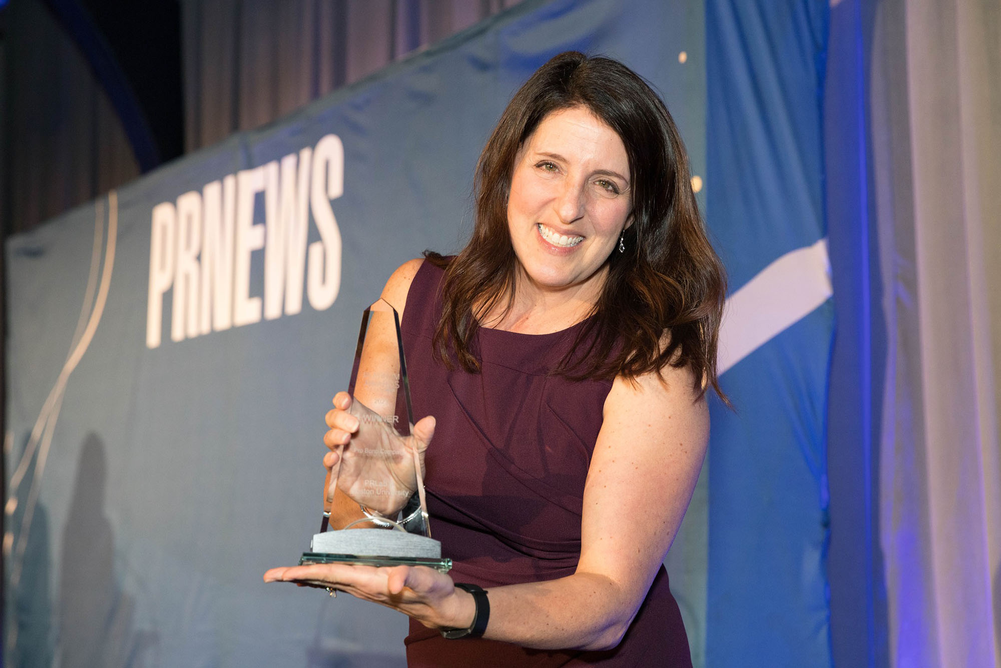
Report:
[{"label": "woman's burgundy sleeveless dress with round neckline", "polygon": [[[581,554],[584,483],[612,383],[549,375],[580,325],[542,335],[480,329],[473,343],[481,372],[449,371],[431,347],[442,276],[429,262],[421,265],[401,323],[414,418],[437,422],[424,479],[431,536],[453,559],[455,582],[489,589],[571,575]],[[692,665],[663,566],[614,650],[445,640],[412,619],[405,643],[411,668]]]}]

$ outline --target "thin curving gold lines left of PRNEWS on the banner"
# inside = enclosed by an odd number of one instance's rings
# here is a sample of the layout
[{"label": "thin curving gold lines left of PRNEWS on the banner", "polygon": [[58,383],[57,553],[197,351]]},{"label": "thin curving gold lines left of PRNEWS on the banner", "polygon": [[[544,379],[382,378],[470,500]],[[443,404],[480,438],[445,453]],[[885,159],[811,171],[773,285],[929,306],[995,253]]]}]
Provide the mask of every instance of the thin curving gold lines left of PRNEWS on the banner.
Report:
[{"label": "thin curving gold lines left of PRNEWS on the banner", "polygon": [[[103,218],[102,207],[98,207],[97,218],[101,220]],[[103,224],[99,225],[103,229]],[[36,447],[39,446],[39,441],[41,441],[40,447],[38,447],[38,458],[35,462],[34,475],[31,480],[31,487],[28,490],[28,498],[25,502],[24,514],[21,516],[21,524],[18,527],[17,532],[17,546],[13,550],[13,560],[11,562],[10,570],[10,585],[11,587],[17,587],[18,582],[21,577],[21,567],[23,565],[24,551],[27,547],[28,542],[28,532],[31,529],[31,520],[34,515],[35,504],[38,500],[38,492],[40,488],[42,474],[45,470],[45,461],[48,458],[49,448],[52,444],[52,434],[55,431],[56,420],[59,417],[59,410],[62,407],[63,394],[66,391],[66,383],[69,381],[69,376],[76,369],[80,360],[83,358],[83,354],[87,351],[90,346],[90,342],[94,338],[94,334],[97,331],[97,325],[101,321],[101,316],[104,313],[104,305],[108,298],[108,289],[111,285],[111,272],[114,269],[115,262],[115,244],[118,237],[118,194],[116,191],[112,190],[108,193],[108,238],[107,245],[104,251],[104,267],[101,272],[101,283],[97,290],[97,297],[94,300],[94,308],[90,312],[90,318],[87,320],[87,326],[84,328],[83,332],[80,334],[80,338],[76,341],[75,345],[71,345],[71,352],[66,358],[66,362],[63,364],[62,370],[59,372],[59,377],[56,379],[55,384],[52,386],[52,390],[49,392],[48,398],[45,400],[45,404],[42,406],[42,410],[38,415],[38,419],[35,421],[35,426],[31,430],[31,436],[28,440],[28,445],[25,447],[24,454],[21,457],[21,461],[18,464],[17,470],[11,477],[10,491],[7,497],[7,504],[5,507],[5,513],[8,517],[11,517],[14,510],[17,508],[17,491],[25,473],[28,469],[28,464],[31,461],[32,456],[35,453]],[[95,235],[99,235],[100,232],[95,230]],[[94,253],[91,257],[91,269],[90,275],[96,276],[97,264],[100,261],[99,249],[100,241],[95,240],[94,248],[97,253]],[[84,296],[84,304],[82,311],[86,311],[87,303],[90,301],[90,297],[93,295],[93,288],[88,280],[87,291]],[[82,315],[82,314],[81,314]],[[81,319],[82,321],[82,319]],[[77,325],[77,331],[79,332],[79,323]],[[75,333],[74,333],[75,337]],[[43,435],[44,433],[44,435]],[[39,439],[39,436],[42,436]],[[4,552],[7,554],[11,553],[11,548],[13,547],[13,532],[8,529],[6,535],[4,536]],[[11,625],[12,634],[15,634],[16,624]],[[16,642],[16,635],[14,635],[13,642]],[[13,646],[10,643],[9,646]]]}]

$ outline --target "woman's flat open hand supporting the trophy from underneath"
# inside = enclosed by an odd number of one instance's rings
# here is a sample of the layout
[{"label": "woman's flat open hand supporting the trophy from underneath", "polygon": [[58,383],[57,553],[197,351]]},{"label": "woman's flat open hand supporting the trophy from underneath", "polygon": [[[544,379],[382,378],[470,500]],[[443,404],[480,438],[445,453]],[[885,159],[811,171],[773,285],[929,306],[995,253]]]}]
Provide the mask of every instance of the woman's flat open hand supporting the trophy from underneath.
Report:
[{"label": "woman's flat open hand supporting the trophy from underneath", "polygon": [[264,582],[294,582],[330,588],[379,603],[430,628],[467,628],[475,605],[445,573],[426,566],[375,567],[360,564],[314,564],[272,568]]}]

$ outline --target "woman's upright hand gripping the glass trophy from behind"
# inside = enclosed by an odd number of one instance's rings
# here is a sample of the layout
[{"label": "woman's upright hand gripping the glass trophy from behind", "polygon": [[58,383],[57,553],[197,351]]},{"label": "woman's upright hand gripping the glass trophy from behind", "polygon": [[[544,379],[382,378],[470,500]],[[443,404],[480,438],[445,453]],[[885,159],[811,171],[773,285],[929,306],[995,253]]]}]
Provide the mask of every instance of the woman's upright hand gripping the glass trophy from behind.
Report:
[{"label": "woman's upright hand gripping the glass trophy from behind", "polygon": [[330,449],[323,457],[329,480],[326,505],[339,489],[368,510],[395,518],[417,489],[415,466],[423,470],[434,418],[418,420],[409,436],[400,436],[391,422],[346,392],[333,397],[333,406],[323,435]]}]

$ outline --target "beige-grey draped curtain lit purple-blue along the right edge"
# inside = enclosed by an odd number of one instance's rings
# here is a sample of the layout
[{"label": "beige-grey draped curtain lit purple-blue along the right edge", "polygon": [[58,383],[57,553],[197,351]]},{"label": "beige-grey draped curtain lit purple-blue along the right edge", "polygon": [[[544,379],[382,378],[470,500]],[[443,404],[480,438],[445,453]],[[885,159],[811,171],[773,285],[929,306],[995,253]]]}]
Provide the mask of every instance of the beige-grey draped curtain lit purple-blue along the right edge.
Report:
[{"label": "beige-grey draped curtain lit purple-blue along the right edge", "polygon": [[891,663],[998,666],[1001,7],[886,1],[872,150]]}]

